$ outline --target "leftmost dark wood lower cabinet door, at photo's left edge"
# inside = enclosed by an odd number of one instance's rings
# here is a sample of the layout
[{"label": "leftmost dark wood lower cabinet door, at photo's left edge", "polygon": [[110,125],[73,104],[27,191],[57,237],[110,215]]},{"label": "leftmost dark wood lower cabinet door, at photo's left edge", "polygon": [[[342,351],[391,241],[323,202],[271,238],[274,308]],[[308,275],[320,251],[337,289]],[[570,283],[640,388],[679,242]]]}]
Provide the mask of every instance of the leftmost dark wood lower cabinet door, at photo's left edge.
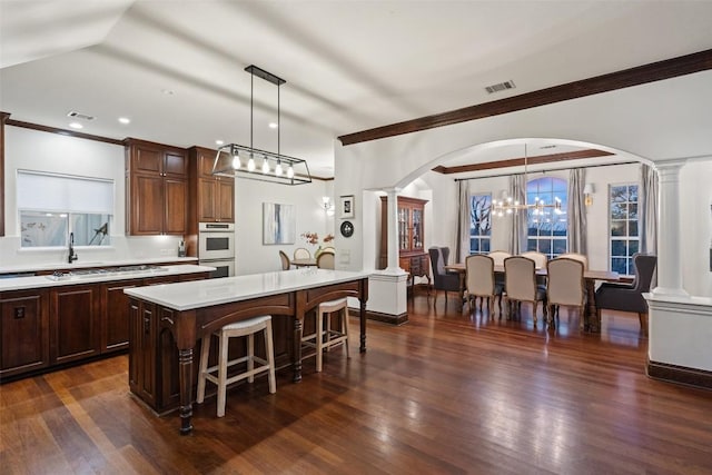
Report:
[{"label": "leftmost dark wood lower cabinet door, at photo's left edge", "polygon": [[0,296],[0,377],[49,365],[46,291],[11,291]]}]

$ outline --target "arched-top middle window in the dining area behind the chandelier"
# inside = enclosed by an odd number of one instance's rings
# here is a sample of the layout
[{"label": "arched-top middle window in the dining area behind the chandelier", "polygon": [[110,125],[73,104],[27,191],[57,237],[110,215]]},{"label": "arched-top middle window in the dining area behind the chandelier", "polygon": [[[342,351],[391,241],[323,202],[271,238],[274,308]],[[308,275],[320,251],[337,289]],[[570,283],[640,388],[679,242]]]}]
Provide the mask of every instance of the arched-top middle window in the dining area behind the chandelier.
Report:
[{"label": "arched-top middle window in the dining area behind the chandelier", "polygon": [[561,210],[530,208],[527,210],[527,250],[545,254],[550,259],[566,253],[567,182],[561,178],[542,177],[526,184],[526,202],[561,201]]}]

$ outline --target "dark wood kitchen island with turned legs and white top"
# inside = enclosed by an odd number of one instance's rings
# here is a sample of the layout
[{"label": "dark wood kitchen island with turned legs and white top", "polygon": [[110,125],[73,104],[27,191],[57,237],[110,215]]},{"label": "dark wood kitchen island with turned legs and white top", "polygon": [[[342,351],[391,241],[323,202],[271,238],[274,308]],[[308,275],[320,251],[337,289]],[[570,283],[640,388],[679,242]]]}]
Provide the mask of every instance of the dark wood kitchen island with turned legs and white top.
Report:
[{"label": "dark wood kitchen island with turned legs and white top", "polygon": [[[360,301],[359,350],[366,350],[367,273],[304,268],[123,291],[131,297],[131,393],[159,414],[179,402],[181,434],[192,431],[194,348],[199,338],[227,324],[257,315],[291,319],[296,383],[301,379],[306,313],[326,300],[355,297]],[[170,346],[175,348],[167,347],[167,342],[172,342]],[[177,387],[171,380],[176,374]]]}]

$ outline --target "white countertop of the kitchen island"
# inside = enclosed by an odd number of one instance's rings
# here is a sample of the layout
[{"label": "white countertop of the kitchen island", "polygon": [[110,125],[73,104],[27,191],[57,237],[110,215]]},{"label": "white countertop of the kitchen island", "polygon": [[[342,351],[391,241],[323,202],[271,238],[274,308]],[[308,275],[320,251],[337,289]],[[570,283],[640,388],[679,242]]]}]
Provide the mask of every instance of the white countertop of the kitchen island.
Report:
[{"label": "white countertop of the kitchen island", "polygon": [[123,291],[134,297],[181,311],[301,290],[320,285],[338,284],[365,278],[369,275],[370,273],[308,267],[220,279],[135,287],[127,288]]}]

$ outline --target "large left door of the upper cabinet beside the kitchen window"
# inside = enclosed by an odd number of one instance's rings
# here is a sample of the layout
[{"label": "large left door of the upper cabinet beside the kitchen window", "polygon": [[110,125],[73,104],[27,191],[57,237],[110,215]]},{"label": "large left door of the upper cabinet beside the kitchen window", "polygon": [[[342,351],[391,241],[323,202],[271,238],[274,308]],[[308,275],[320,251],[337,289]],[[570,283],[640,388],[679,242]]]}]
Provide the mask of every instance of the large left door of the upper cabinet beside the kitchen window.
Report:
[{"label": "large left door of the upper cabinet beside the kitchen window", "polygon": [[164,229],[164,179],[158,175],[134,175],[130,232],[160,235]]}]

